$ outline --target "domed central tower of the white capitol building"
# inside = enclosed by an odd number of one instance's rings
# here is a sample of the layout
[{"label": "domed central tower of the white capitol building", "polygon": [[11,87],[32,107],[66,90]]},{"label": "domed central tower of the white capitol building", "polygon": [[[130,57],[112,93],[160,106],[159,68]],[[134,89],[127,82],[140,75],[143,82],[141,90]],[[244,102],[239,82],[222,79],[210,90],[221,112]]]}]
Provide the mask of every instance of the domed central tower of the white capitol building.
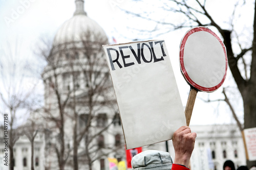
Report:
[{"label": "domed central tower of the white capitol building", "polygon": [[58,29],[42,73],[47,120],[45,166],[105,169],[125,159],[122,128],[103,53],[108,38],[76,0],[74,16]]}]

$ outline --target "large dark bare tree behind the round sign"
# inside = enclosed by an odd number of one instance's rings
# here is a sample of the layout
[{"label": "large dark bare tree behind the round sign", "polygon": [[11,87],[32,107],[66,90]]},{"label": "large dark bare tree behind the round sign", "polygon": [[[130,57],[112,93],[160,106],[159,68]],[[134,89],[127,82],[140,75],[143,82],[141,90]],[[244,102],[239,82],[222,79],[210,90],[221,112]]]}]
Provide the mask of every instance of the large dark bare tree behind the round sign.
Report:
[{"label": "large dark bare tree behind the round sign", "polygon": [[[135,3],[145,3],[145,1],[134,0]],[[158,4],[159,9],[161,10],[162,18],[154,17],[154,12],[146,12],[146,10],[141,10],[140,12],[134,12],[130,9],[124,9],[126,13],[137,16],[141,19],[148,20],[150,22],[155,23],[155,27],[152,30],[148,30],[144,34],[147,35],[159,35],[164,34],[170,31],[183,29],[183,28],[191,28],[197,26],[206,26],[212,29],[216,29],[219,34],[223,38],[223,42],[226,46],[227,57],[228,57],[228,65],[231,70],[234,81],[236,82],[237,88],[239,89],[244,105],[244,128],[253,128],[256,126],[256,100],[254,99],[256,96],[256,17],[254,11],[254,21],[252,33],[249,37],[252,37],[250,40],[251,43],[248,43],[248,40],[242,44],[239,37],[240,34],[236,32],[234,27],[234,23],[237,15],[236,9],[241,6],[251,6],[255,5],[255,2],[249,1],[236,1],[233,4],[226,8],[231,8],[233,6],[233,13],[231,14],[230,20],[224,20],[226,24],[229,25],[229,30],[224,29],[224,26],[219,24],[211,11],[211,6],[209,5],[209,1],[183,1],[183,0],[167,0],[164,2],[154,2]],[[148,4],[148,2],[147,2]],[[159,5],[160,4],[160,5]],[[157,5],[156,5],[157,6]],[[217,9],[216,9],[217,10]],[[215,11],[216,11],[215,10]],[[157,11],[157,10],[155,10]],[[165,14],[163,14],[166,12]],[[153,14],[152,14],[153,13]],[[168,14],[168,15],[167,15]],[[158,15],[159,17],[159,15]],[[170,20],[170,18],[182,18],[180,21]],[[229,18],[227,18],[229,19]],[[247,28],[248,29],[248,28]],[[137,31],[141,31],[142,29],[138,29]],[[247,32],[250,32],[247,30]],[[241,35],[242,36],[242,35]],[[248,37],[248,39],[250,39]],[[239,48],[234,48],[237,46]],[[239,50],[238,50],[239,49]],[[249,60],[247,59],[249,56]],[[249,61],[249,62],[248,62]],[[240,64],[241,63],[241,64]],[[230,100],[228,100],[228,96],[223,91],[224,101],[230,107],[234,117],[235,112],[232,110],[232,105]],[[239,119],[236,118],[238,125],[241,125]],[[243,128],[240,127],[241,130]],[[256,164],[256,161],[248,161],[247,165],[251,166],[252,164]]]}]

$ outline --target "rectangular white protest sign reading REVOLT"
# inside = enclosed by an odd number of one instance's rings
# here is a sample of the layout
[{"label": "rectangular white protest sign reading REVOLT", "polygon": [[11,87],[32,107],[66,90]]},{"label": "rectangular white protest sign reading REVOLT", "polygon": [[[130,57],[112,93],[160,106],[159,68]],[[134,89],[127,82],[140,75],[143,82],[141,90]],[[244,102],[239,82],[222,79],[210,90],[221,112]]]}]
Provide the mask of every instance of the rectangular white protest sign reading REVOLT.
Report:
[{"label": "rectangular white protest sign reading REVOLT", "polygon": [[164,40],[103,45],[126,149],[172,139],[185,115]]}]

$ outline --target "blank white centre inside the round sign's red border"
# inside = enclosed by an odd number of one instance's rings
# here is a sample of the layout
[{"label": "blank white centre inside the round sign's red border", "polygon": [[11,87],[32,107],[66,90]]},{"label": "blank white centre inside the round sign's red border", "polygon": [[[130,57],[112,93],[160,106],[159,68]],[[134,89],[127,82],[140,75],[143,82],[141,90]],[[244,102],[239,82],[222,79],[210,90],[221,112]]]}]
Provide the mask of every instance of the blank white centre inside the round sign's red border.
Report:
[{"label": "blank white centre inside the round sign's red border", "polygon": [[226,73],[223,46],[209,32],[199,31],[188,36],[183,61],[188,77],[205,88],[217,86]]}]

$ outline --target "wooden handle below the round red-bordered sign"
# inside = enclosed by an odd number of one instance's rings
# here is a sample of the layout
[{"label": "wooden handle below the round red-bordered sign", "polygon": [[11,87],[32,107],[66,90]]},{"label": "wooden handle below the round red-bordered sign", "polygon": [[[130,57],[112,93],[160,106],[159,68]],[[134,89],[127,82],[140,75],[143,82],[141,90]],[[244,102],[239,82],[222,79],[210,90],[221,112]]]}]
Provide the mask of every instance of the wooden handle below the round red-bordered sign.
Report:
[{"label": "wooden handle below the round red-bordered sign", "polygon": [[194,89],[194,88],[191,88],[190,92],[189,92],[189,95],[188,95],[188,99],[187,99],[187,105],[186,105],[186,108],[185,108],[185,116],[186,116],[187,126],[189,126],[189,123],[190,123],[190,118],[191,118],[191,115],[192,115],[192,111],[193,111],[193,108],[194,108],[196,97],[197,97],[197,90]]}]

